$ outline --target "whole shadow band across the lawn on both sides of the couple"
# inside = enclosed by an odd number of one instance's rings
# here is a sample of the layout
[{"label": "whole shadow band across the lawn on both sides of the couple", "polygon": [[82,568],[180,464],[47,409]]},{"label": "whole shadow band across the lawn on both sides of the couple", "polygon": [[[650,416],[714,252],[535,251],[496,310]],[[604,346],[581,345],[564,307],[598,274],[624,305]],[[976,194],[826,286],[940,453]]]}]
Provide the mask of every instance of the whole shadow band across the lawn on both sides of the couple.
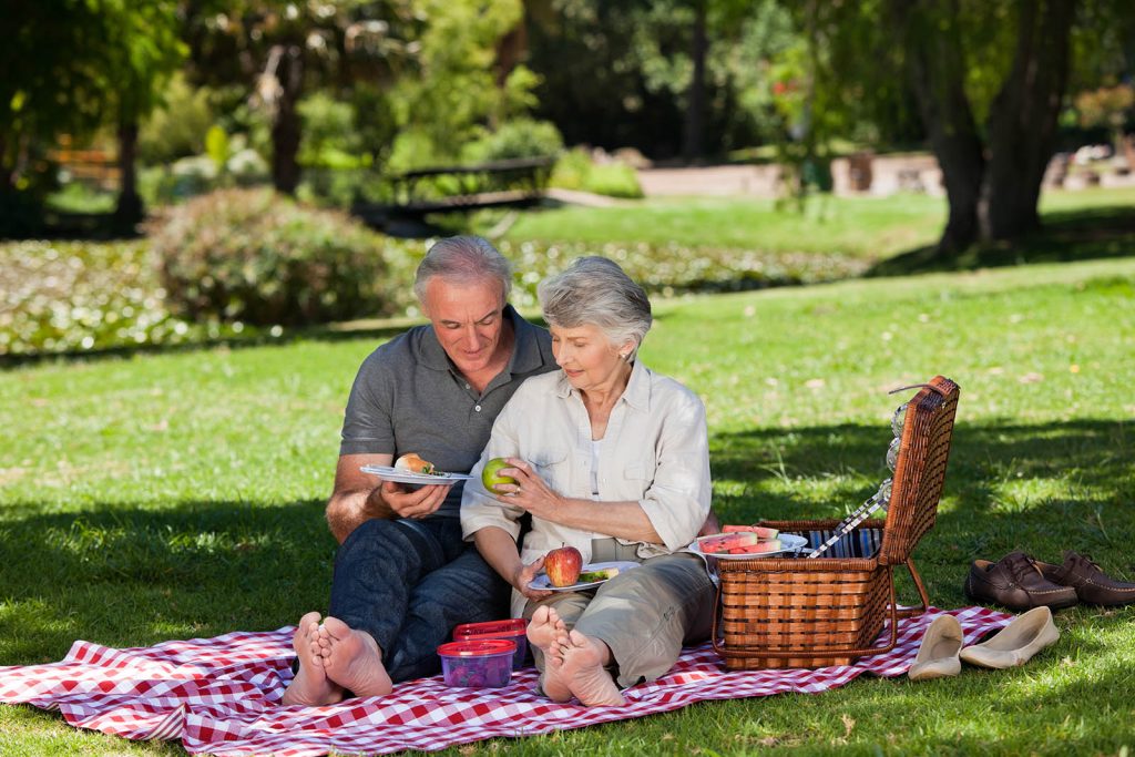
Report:
[{"label": "whole shadow band across the lawn on both sides of the couple", "polygon": [[[714,506],[724,523],[840,518],[885,477],[889,441],[884,423],[715,435]],[[915,550],[931,600],[972,604],[961,591],[969,562],[1015,548],[1049,562],[1074,548],[1135,580],[1133,462],[1130,423],[959,423],[947,506]],[[806,494],[825,481],[834,481],[830,496]],[[144,646],[276,629],[326,608],[336,545],[322,513],[314,499],[94,503],[70,513],[9,505],[0,665],[58,659],[77,638]],[[903,574],[900,598],[911,602]]]}]

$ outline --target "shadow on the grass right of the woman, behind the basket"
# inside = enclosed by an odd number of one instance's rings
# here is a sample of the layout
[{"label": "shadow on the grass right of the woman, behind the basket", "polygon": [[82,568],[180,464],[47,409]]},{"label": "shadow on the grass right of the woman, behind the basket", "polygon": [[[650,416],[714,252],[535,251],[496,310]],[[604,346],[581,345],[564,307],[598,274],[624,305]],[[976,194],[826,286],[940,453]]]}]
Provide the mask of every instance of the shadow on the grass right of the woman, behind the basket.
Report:
[{"label": "shadow on the grass right of the woman, behind the basket", "polygon": [[[969,604],[961,591],[969,562],[1014,549],[1057,563],[1063,549],[1076,549],[1095,556],[1112,575],[1135,580],[1128,549],[1135,541],[1133,430],[1104,420],[959,422],[943,493],[948,506],[915,550],[931,600],[942,607]],[[889,474],[883,460],[890,439],[883,424],[714,436],[717,489],[739,491],[715,495],[714,507],[724,523],[842,518]],[[838,481],[830,499],[793,494],[797,481],[804,489],[825,480]],[[908,586],[903,578],[900,588]],[[913,599],[910,592],[902,596]]]}]

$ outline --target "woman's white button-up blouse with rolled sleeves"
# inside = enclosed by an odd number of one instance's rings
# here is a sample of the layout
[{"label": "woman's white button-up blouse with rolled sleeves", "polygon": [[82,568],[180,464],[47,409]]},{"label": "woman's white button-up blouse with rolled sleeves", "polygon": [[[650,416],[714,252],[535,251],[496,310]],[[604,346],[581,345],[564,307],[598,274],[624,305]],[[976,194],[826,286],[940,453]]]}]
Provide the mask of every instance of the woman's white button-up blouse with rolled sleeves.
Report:
[{"label": "woman's white button-up blouse with rolled sleeves", "polygon": [[[599,495],[592,481],[591,422],[580,393],[563,371],[536,376],[521,385],[497,417],[481,459],[465,482],[461,527],[466,540],[496,525],[515,539],[520,507],[488,494],[481,470],[493,457],[519,457],[532,464],[556,493],[599,502],[637,501],[664,544],[638,544],[641,558],[678,552],[690,544],[709,513],[709,441],[701,399],[678,381],[636,362],[627,389],[615,403],[598,461]],[[521,560],[530,563],[549,549],[570,545],[591,560],[592,533],[533,518]]]}]

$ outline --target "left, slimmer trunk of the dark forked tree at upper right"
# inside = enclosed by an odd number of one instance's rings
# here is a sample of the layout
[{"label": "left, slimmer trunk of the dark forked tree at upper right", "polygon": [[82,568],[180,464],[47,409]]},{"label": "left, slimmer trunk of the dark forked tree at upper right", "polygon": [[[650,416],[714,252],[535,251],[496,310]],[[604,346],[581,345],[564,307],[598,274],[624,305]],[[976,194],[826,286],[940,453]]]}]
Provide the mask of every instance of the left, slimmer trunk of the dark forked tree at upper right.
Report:
[{"label": "left, slimmer trunk of the dark forked tree at upper right", "polygon": [[892,24],[903,41],[907,74],[945,184],[950,211],[938,243],[940,256],[977,241],[985,158],[965,91],[966,60],[957,0],[892,0]]}]

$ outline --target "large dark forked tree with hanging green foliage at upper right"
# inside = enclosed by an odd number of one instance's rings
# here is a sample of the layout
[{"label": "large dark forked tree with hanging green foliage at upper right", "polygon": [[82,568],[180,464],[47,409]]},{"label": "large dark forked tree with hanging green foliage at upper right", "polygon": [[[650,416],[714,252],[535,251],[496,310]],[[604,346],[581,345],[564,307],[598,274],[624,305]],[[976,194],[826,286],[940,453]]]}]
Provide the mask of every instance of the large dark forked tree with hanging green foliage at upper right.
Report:
[{"label": "large dark forked tree with hanging green foliage at upper right", "polygon": [[939,244],[950,254],[1036,228],[1069,78],[1117,62],[1113,50],[1088,52],[1085,35],[1102,24],[1112,40],[1124,39],[1124,5],[814,0],[793,8],[829,51],[821,58],[825,86],[850,94],[833,103],[856,113],[877,107],[896,83],[914,93],[950,201]]}]

